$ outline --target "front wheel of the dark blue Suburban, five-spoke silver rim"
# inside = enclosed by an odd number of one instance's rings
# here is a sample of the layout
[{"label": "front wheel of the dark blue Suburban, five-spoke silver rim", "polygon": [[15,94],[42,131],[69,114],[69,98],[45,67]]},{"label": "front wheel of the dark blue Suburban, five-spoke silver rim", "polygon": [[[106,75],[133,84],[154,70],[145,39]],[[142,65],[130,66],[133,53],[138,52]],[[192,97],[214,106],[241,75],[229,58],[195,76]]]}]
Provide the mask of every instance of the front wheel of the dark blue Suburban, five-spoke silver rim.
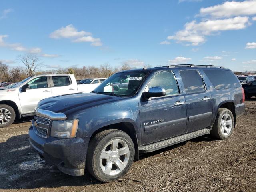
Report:
[{"label": "front wheel of the dark blue Suburban, five-spoke silver rim", "polygon": [[102,131],[92,138],[86,168],[101,182],[112,182],[124,176],[134,160],[134,144],[123,131]]}]

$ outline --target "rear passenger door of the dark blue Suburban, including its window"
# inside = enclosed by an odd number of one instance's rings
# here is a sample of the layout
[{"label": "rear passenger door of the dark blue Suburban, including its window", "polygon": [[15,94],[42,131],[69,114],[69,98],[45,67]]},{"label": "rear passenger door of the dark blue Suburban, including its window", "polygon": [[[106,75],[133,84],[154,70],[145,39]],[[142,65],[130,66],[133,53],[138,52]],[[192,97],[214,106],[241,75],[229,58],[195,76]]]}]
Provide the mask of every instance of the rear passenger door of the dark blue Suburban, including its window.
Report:
[{"label": "rear passenger door of the dark blue Suburban, including its window", "polygon": [[210,126],[212,120],[212,98],[209,87],[198,70],[180,70],[184,85],[187,108],[186,132],[193,132]]}]

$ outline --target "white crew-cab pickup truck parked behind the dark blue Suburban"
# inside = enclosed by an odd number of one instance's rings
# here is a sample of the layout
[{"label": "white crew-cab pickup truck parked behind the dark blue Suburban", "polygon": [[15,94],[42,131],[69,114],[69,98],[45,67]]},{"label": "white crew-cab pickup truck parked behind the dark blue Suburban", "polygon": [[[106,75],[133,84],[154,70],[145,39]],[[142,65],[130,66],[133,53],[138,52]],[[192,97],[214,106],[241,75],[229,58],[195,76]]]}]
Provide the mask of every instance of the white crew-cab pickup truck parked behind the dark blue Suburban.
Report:
[{"label": "white crew-cab pickup truck parked behind the dark blue Suburban", "polygon": [[28,77],[14,87],[0,90],[0,128],[12,124],[15,118],[33,116],[37,103],[48,97],[88,93],[103,82],[93,79],[89,84],[77,84],[72,74],[38,75]]}]

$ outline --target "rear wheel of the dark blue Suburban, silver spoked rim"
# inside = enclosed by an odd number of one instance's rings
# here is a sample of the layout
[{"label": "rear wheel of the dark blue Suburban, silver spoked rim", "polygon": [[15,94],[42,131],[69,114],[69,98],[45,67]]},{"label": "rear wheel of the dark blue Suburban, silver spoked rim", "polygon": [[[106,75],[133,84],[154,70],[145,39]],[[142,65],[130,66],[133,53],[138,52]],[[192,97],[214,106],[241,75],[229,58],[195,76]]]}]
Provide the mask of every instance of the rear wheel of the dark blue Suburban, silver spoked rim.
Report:
[{"label": "rear wheel of the dark blue Suburban, silver spoked rim", "polygon": [[234,130],[234,116],[226,108],[219,108],[210,134],[220,140],[228,139]]}]

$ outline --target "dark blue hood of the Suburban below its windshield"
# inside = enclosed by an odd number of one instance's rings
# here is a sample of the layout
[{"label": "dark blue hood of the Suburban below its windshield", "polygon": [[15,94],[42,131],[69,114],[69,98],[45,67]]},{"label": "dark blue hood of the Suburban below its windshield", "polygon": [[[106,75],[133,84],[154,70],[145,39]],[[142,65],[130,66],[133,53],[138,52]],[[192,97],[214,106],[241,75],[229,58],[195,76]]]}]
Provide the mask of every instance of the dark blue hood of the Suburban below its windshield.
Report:
[{"label": "dark blue hood of the Suburban below its windshield", "polygon": [[76,93],[43,99],[38,103],[38,108],[56,113],[70,113],[120,99],[122,98],[104,94]]}]

